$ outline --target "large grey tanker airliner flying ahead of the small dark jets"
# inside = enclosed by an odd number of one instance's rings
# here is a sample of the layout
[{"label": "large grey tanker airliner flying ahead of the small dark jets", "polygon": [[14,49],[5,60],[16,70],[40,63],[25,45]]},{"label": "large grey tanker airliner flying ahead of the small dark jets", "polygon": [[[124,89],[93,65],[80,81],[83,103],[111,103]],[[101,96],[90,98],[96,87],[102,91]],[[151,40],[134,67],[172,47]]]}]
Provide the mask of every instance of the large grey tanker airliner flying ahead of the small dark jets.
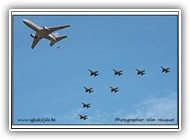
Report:
[{"label": "large grey tanker airliner flying ahead of the small dark jets", "polygon": [[59,36],[58,34],[52,34],[54,31],[63,29],[63,28],[67,28],[70,27],[70,25],[64,25],[64,26],[57,26],[57,27],[46,27],[43,26],[42,28],[39,27],[38,25],[34,24],[33,22],[31,22],[30,20],[27,19],[23,19],[24,24],[26,24],[28,27],[30,27],[31,29],[33,29],[36,34],[30,34],[30,36],[32,38],[34,38],[33,43],[31,48],[33,49],[36,44],[38,43],[39,40],[41,40],[42,38],[48,39],[50,40],[50,46],[53,46],[56,42],[66,38],[67,36]]}]

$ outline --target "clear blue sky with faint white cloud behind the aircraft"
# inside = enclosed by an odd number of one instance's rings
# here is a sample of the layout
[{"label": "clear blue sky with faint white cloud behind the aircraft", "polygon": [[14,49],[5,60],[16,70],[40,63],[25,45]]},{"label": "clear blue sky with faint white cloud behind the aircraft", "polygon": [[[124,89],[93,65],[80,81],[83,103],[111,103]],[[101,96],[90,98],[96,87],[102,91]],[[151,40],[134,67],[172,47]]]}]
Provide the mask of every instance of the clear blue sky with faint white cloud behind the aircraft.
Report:
[{"label": "clear blue sky with faint white cloud behind the aircraft", "polygon": [[[57,31],[68,38],[53,47],[42,39],[31,49],[35,32],[22,19],[40,27],[70,24]],[[160,66],[171,72],[161,73]],[[115,76],[113,68],[123,75]],[[99,76],[91,77],[88,69]],[[146,74],[138,76],[136,69]],[[176,124],[177,16],[14,16],[13,82],[14,124],[31,124],[18,119],[32,118],[55,118],[50,124],[123,124],[117,117],[174,118]],[[83,86],[94,92],[85,93]],[[109,86],[120,91],[113,94]],[[92,107],[82,108],[81,102]],[[149,123],[159,122],[143,122]]]}]

